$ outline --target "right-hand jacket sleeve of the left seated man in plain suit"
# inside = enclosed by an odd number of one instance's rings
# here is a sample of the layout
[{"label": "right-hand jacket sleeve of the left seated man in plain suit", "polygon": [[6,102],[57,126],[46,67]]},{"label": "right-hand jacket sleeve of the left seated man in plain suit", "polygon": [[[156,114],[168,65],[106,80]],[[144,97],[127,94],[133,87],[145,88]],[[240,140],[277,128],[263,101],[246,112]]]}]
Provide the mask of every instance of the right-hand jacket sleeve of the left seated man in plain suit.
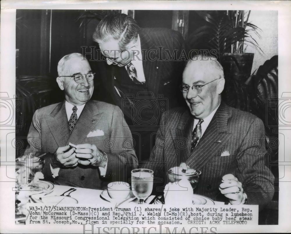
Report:
[{"label": "right-hand jacket sleeve of the left seated man in plain suit", "polygon": [[[125,181],[131,170],[138,165],[135,151],[133,149],[132,134],[119,107],[114,107],[110,140],[107,141],[107,171],[105,177],[115,177],[115,181]],[[123,178],[122,178],[123,177]]]}]

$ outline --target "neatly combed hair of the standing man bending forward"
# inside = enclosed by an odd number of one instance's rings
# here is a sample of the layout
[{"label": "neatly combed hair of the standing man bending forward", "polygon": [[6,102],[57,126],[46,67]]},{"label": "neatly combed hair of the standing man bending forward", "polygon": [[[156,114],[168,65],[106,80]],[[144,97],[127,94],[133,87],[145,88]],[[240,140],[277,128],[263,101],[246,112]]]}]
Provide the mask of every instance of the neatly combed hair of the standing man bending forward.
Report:
[{"label": "neatly combed hair of the standing man bending forward", "polygon": [[130,42],[136,42],[139,30],[136,21],[128,15],[107,15],[97,25],[93,40],[101,43],[113,38],[118,41],[119,49],[125,50]]}]

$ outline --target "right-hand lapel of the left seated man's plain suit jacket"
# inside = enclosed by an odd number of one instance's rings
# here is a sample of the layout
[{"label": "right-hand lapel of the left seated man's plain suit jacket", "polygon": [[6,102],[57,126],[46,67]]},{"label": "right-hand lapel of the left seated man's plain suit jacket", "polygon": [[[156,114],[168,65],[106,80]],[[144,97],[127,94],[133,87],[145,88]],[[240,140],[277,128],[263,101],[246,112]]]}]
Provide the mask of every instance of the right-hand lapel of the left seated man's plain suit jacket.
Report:
[{"label": "right-hand lapel of the left seated man's plain suit jacket", "polygon": [[68,145],[69,142],[73,144],[83,142],[88,133],[97,125],[101,117],[102,113],[100,113],[98,109],[96,110],[92,101],[88,101],[80,114],[72,133],[69,138],[67,138],[66,145]]}]

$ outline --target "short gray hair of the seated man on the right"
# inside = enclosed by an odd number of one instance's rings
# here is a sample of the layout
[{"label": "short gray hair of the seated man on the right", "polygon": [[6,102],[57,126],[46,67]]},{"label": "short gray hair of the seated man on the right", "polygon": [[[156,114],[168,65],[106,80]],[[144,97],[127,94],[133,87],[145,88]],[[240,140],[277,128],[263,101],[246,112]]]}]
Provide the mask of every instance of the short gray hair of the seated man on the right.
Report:
[{"label": "short gray hair of the seated man on the right", "polygon": [[201,66],[207,69],[213,69],[217,71],[219,78],[224,78],[223,68],[217,59],[212,55],[194,55],[190,60],[188,60],[186,67],[190,66],[191,63],[200,63]]}]

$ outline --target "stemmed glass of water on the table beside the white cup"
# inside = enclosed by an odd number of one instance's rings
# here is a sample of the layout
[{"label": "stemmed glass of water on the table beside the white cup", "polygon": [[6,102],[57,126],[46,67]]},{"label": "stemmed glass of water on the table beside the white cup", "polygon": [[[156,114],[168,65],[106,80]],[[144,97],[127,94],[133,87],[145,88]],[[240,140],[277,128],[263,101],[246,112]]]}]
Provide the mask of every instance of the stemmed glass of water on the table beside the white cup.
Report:
[{"label": "stemmed glass of water on the table beside the white cup", "polygon": [[139,204],[152,193],[154,172],[149,169],[134,169],[131,171],[131,187],[133,195],[139,199]]}]

